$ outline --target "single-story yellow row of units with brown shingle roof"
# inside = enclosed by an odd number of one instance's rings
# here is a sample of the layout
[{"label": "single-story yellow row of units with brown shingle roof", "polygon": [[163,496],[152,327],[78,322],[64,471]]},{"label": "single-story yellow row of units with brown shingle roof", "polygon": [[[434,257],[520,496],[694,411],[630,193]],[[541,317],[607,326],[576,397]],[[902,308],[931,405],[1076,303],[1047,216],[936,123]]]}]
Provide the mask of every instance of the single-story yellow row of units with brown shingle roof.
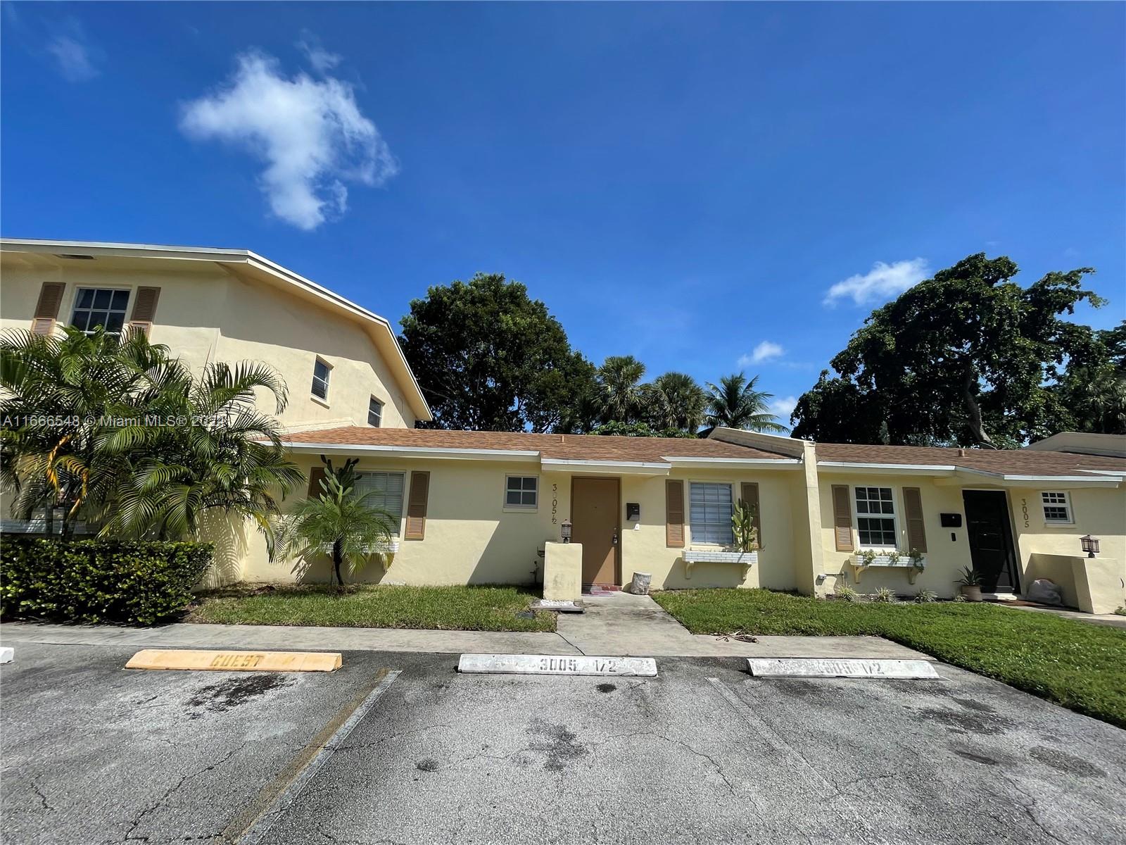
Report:
[{"label": "single-story yellow row of units with brown shingle roof", "polygon": [[[289,445],[311,486],[320,455],[358,459],[360,484],[397,516],[385,566],[364,579],[534,582],[570,522],[586,585],[620,587],[641,571],[664,589],[824,595],[848,584],[953,596],[969,566],[986,593],[1049,578],[1082,610],[1126,604],[1117,454],[814,444],[725,428],[677,439],[343,427]],[[733,545],[738,499],[756,507],[753,553]],[[1094,558],[1085,535],[1100,542]],[[270,564],[260,543],[240,575],[327,578]]]}]

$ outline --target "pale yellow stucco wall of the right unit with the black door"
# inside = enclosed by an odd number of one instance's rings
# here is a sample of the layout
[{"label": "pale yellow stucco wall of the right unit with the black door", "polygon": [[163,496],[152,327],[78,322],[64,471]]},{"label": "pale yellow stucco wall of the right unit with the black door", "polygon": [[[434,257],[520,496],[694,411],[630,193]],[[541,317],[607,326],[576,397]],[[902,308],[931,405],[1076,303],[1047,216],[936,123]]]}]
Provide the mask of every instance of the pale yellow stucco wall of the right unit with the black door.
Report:
[{"label": "pale yellow stucco wall of the right unit with the black door", "polygon": [[[861,576],[860,584],[855,584],[851,568],[847,567],[852,552],[837,551],[835,549],[832,507],[832,487],[834,484],[847,484],[849,488],[854,528],[856,526],[855,488],[892,488],[892,495],[895,499],[899,550],[903,554],[910,551],[904,521],[903,488],[914,487],[919,489],[922,500],[923,524],[927,532],[927,566],[919,573],[913,585],[909,581],[906,570],[878,568],[868,569]],[[823,572],[828,577],[819,587],[817,593],[832,593],[835,585],[842,582],[840,573],[843,571],[847,572],[843,582],[864,593],[874,593],[879,587],[890,587],[901,595],[911,595],[919,589],[933,590],[939,596],[946,597],[955,595],[958,590],[955,580],[959,577],[960,570],[972,564],[965,525],[965,506],[962,499],[962,491],[967,489],[1003,490],[1008,496],[1021,590],[1026,589],[1030,579],[1036,577],[1052,577],[1057,582],[1070,584],[1072,581],[1070,569],[1061,567],[1056,576],[1053,577],[1052,575],[1046,575],[1046,570],[1043,567],[1033,567],[1033,571],[1029,571],[1030,560],[1034,554],[1065,555],[1070,559],[1080,553],[1079,540],[1084,534],[1092,534],[1100,537],[1102,542],[1100,558],[1108,558],[1116,561],[1116,566],[1119,568],[1123,566],[1120,562],[1126,560],[1126,535],[1124,535],[1124,527],[1126,527],[1126,489],[1123,488],[1069,489],[1066,482],[1056,482],[1053,484],[1051,481],[1045,481],[1035,489],[1006,489],[989,484],[967,483],[959,486],[951,484],[948,481],[939,484],[936,483],[932,477],[927,475],[822,472],[820,489],[822,514],[821,544],[824,562]],[[1047,525],[1044,521],[1040,492],[1043,490],[1060,489],[1067,490],[1071,497],[1075,521],[1073,525]],[[941,527],[940,514],[942,513],[962,514],[963,526],[960,528]],[[857,542],[855,530],[854,545],[857,549],[861,548]],[[1126,579],[1126,571],[1121,572],[1121,576]],[[1106,579],[1098,582],[1103,585],[1100,593],[1103,602],[1117,601],[1115,596],[1106,595],[1109,589],[1106,586]],[[1121,589],[1120,581],[1117,589]]]}]

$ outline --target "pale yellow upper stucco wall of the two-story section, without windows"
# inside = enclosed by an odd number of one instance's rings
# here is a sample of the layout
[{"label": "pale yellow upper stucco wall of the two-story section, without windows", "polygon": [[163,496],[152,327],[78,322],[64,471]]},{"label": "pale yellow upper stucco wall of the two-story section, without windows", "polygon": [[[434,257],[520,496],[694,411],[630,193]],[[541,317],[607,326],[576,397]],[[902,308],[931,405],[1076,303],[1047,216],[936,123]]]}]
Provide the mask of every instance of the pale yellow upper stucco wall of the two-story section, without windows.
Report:
[{"label": "pale yellow upper stucco wall of the two-story section, without windows", "polygon": [[[372,395],[384,402],[383,426],[411,428],[414,415],[370,337],[354,320],[288,295],[283,288],[242,278],[209,261],[151,265],[66,261],[60,267],[21,265],[5,255],[0,275],[0,328],[27,329],[44,282],[66,285],[59,323],[69,324],[79,287],[129,291],[126,319],[141,286],[160,288],[154,344],[194,370],[209,362],[261,361],[277,370],[289,389],[279,419],[287,426],[366,425]],[[320,355],[332,366],[329,401],[312,395],[313,363]],[[265,400],[265,394],[262,394]],[[262,410],[274,412],[272,401]]]}]

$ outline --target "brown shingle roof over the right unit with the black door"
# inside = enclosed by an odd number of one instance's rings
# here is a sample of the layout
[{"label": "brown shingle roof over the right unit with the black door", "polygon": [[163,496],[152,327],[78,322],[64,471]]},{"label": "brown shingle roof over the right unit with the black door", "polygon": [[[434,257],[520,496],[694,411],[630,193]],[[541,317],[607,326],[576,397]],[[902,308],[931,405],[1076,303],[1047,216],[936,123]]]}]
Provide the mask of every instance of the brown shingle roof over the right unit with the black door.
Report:
[{"label": "brown shingle roof over the right unit with the black door", "polygon": [[1084,470],[1126,472],[1124,459],[1070,452],[868,446],[854,443],[819,443],[816,451],[819,462],[959,466],[1011,475],[1075,475]]}]

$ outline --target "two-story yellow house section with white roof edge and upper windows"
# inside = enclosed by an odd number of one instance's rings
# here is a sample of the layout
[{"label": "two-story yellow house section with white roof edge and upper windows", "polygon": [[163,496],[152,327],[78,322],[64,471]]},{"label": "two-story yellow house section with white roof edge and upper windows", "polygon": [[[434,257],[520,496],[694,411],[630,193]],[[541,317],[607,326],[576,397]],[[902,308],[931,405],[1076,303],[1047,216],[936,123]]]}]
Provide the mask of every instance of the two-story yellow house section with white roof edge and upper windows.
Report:
[{"label": "two-story yellow house section with white roof edge and upper windows", "polygon": [[266,362],[289,430],[430,419],[387,320],[249,250],[0,240],[0,328],[60,324],[142,329],[195,368]]}]

